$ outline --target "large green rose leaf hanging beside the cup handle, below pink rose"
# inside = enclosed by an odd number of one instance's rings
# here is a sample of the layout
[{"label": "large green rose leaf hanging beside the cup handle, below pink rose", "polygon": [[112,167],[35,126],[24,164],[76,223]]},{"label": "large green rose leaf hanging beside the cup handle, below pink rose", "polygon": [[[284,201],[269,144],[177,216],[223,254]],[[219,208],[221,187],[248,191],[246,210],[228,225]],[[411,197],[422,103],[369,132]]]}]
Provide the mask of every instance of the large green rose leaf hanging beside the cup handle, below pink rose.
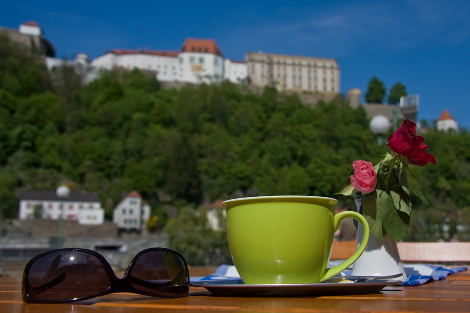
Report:
[{"label": "large green rose leaf hanging beside the cup handle, below pink rose", "polygon": [[[374,190],[371,193],[363,195],[361,200],[362,215],[366,218],[371,233],[379,240],[383,238],[382,232],[382,206],[377,206],[377,200],[383,201],[379,194],[382,190]],[[388,195],[387,195],[388,196]]]}]

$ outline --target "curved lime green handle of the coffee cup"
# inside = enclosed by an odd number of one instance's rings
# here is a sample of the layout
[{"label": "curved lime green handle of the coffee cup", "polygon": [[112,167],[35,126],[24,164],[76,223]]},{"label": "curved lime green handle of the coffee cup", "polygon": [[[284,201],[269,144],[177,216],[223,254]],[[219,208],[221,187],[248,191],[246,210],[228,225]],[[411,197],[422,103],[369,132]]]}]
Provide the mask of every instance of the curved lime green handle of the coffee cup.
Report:
[{"label": "curved lime green handle of the coffee cup", "polygon": [[357,259],[362,255],[364,250],[366,250],[367,243],[369,242],[369,223],[367,223],[366,219],[359,213],[354,212],[354,211],[345,211],[345,212],[340,212],[334,216],[333,220],[333,232],[335,232],[338,229],[339,223],[347,218],[353,218],[356,219],[359,223],[362,224],[362,227],[364,228],[364,236],[362,237],[362,242],[359,248],[354,252],[354,254],[344,261],[341,264],[338,264],[334,268],[330,268],[328,270],[325,270],[324,274],[322,277],[320,277],[320,281],[327,280],[331,277],[333,277],[336,274],[339,274],[346,268],[350,267],[354,262],[356,262]]}]

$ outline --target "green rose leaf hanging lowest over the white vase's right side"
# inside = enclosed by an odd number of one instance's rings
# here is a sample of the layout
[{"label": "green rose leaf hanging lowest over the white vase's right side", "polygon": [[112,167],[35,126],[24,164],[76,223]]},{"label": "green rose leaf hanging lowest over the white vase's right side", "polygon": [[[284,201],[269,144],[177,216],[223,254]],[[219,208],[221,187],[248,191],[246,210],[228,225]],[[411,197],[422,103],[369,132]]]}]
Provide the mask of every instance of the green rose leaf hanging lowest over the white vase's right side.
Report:
[{"label": "green rose leaf hanging lowest over the white vase's right side", "polygon": [[403,239],[408,230],[410,216],[395,209],[392,197],[389,197],[382,208],[382,221],[385,231],[398,242]]}]

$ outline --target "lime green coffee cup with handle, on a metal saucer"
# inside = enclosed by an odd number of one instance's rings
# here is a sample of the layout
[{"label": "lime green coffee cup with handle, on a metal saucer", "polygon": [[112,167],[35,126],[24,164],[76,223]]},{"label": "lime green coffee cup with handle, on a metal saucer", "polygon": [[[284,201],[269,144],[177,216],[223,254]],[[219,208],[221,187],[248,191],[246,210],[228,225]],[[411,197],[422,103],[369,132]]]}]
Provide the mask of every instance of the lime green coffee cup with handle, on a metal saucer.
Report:
[{"label": "lime green coffee cup with handle, on a metal saucer", "polygon": [[[227,238],[235,268],[245,284],[306,284],[333,277],[364,252],[369,224],[353,211],[334,215],[337,200],[268,196],[228,200]],[[364,227],[357,251],[327,269],[339,223],[354,218]]]}]

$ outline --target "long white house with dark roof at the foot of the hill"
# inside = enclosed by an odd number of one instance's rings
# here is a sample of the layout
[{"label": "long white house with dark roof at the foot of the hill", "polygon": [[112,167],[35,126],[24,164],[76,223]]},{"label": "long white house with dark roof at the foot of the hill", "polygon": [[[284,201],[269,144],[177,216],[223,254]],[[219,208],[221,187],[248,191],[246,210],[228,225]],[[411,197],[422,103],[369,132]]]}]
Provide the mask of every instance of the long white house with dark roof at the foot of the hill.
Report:
[{"label": "long white house with dark roof at the foot of the hill", "polygon": [[95,193],[72,192],[66,199],[53,191],[25,191],[21,194],[19,219],[41,218],[75,220],[79,224],[100,225],[104,222],[104,210]]}]

